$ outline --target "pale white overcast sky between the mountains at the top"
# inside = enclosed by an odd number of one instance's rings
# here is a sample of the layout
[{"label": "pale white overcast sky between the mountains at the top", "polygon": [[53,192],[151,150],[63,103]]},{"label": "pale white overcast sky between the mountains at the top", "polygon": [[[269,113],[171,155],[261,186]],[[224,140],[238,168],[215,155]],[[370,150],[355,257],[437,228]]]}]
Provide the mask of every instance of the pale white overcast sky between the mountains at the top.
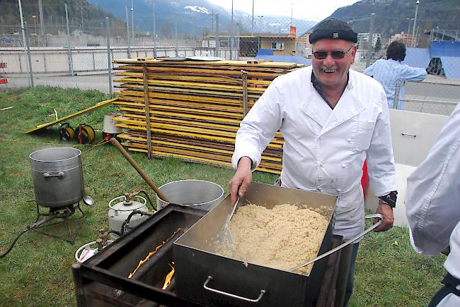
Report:
[{"label": "pale white overcast sky between the mountains at the top", "polygon": [[[212,4],[217,4],[231,10],[232,0],[209,0]],[[319,21],[330,16],[337,8],[355,4],[359,0],[253,0],[254,15],[280,15],[291,16],[293,18],[306,18],[308,20]],[[252,14],[253,1],[233,0],[234,10],[244,11]]]}]

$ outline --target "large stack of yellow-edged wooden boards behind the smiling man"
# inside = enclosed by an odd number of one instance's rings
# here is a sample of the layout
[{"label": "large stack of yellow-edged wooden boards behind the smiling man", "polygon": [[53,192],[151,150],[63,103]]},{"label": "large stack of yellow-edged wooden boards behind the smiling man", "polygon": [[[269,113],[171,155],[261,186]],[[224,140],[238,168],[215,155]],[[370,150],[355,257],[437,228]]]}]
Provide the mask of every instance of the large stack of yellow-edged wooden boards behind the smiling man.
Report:
[{"label": "large stack of yellow-edged wooden boards behind the smiling man", "polygon": [[[121,97],[114,102],[129,150],[149,156],[231,165],[239,123],[274,78],[301,67],[267,61],[126,59],[116,73]],[[149,124],[147,124],[149,123]],[[150,140],[150,142],[149,142]],[[263,152],[260,171],[279,173],[279,132]]]}]

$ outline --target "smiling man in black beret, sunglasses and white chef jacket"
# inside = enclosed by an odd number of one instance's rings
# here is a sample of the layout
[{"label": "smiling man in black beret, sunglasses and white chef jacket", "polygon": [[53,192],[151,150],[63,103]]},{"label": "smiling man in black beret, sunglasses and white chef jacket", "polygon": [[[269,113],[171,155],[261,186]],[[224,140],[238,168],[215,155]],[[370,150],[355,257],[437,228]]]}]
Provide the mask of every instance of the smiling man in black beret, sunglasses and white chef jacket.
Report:
[{"label": "smiling man in black beret, sunglasses and white chef jacket", "polygon": [[[333,234],[350,239],[364,230],[362,167],[380,203],[376,212],[393,226],[396,174],[388,104],[380,83],[350,69],[357,33],[331,18],[309,37],[311,66],[272,81],[241,121],[232,157],[236,169],[229,182],[231,201],[246,193],[252,171],[275,132],[284,137],[281,186],[338,195]],[[347,306],[359,242],[353,246],[345,294]]]}]

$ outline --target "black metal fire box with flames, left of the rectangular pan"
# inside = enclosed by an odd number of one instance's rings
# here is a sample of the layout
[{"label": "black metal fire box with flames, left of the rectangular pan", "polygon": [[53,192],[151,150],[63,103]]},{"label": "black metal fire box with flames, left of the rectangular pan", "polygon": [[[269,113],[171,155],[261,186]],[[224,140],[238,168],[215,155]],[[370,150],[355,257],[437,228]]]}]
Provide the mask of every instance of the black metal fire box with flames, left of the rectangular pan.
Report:
[{"label": "black metal fire box with flames, left of the rectangular pan", "polygon": [[[171,272],[173,240],[180,236],[178,229],[188,229],[205,213],[204,210],[167,205],[92,258],[75,263],[72,271],[78,306],[159,306],[159,303],[200,306],[177,296],[175,277],[166,290],[161,288]],[[139,260],[162,244],[139,268],[141,274],[135,280],[134,277],[128,279]]]}]

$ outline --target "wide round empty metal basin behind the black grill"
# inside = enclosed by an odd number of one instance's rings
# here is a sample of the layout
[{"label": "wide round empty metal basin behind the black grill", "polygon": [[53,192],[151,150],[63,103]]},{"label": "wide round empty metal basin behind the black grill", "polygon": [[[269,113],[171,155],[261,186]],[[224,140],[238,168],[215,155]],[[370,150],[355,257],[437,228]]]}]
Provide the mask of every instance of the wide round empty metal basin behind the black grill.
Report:
[{"label": "wide round empty metal basin behind the black grill", "polygon": [[[211,210],[224,199],[224,189],[217,183],[205,180],[179,180],[163,184],[160,191],[171,203],[201,210]],[[156,204],[160,209],[168,205],[156,195]]]}]

